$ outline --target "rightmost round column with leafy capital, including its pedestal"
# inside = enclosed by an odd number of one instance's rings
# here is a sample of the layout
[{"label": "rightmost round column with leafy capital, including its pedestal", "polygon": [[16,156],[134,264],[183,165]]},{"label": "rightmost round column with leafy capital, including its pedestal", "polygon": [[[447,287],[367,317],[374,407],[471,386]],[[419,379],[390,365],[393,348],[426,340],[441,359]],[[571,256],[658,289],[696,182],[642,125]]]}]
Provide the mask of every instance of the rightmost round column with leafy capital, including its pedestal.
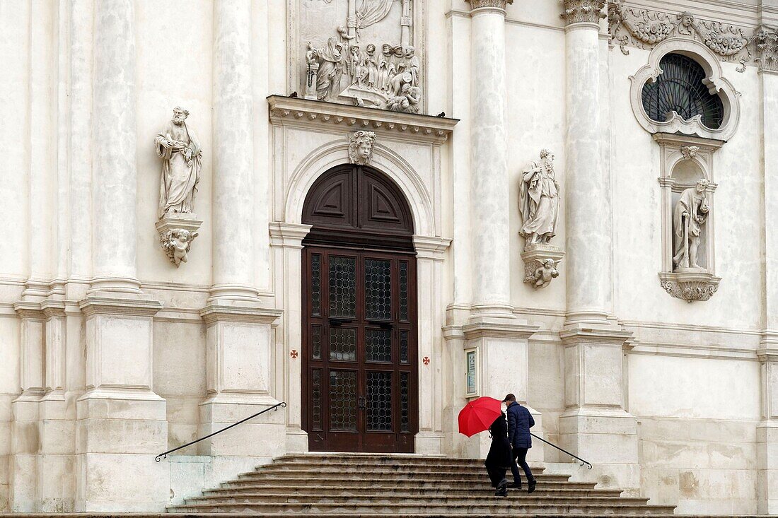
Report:
[{"label": "rightmost round column with leafy capital, including its pedestal", "polygon": [[625,410],[624,345],[612,325],[610,172],[602,156],[602,0],[565,0],[566,21],[566,411],[562,447],[591,461],[602,484],[640,493],[636,419]]}]

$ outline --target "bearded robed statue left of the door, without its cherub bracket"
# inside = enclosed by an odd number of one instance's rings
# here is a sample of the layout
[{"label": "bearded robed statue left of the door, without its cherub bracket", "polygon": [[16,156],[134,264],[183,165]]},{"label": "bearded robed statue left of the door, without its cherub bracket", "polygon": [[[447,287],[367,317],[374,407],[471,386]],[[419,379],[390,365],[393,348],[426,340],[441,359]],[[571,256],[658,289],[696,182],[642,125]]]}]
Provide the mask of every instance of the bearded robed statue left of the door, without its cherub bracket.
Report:
[{"label": "bearded robed statue left of the door, without its cherub bracket", "polygon": [[159,177],[159,218],[170,212],[193,212],[202,169],[202,148],[195,131],[187,127],[188,110],[173,108],[173,120],[154,139],[163,159]]}]

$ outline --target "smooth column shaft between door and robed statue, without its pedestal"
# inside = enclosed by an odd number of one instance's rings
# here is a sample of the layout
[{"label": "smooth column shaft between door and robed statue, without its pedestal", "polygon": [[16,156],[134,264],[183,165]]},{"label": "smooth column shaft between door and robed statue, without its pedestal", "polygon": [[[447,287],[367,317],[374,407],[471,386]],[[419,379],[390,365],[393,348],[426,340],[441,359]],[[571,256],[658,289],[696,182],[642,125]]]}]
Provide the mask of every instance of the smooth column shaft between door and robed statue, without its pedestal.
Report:
[{"label": "smooth column shaft between door and robed statue, without its pedestal", "polygon": [[469,0],[474,310],[510,312],[505,8]]}]

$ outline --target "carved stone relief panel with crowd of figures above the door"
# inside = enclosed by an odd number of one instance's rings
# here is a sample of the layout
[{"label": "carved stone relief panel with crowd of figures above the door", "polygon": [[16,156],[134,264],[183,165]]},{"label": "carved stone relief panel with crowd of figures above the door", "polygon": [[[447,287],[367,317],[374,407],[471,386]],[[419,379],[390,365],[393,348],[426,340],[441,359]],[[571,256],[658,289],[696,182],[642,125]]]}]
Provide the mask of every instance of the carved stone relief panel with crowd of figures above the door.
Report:
[{"label": "carved stone relief panel with crowd of figures above the door", "polygon": [[329,35],[318,32],[321,23],[309,29],[307,99],[419,113],[422,61],[412,44],[412,0],[334,0],[308,9],[342,23]]}]

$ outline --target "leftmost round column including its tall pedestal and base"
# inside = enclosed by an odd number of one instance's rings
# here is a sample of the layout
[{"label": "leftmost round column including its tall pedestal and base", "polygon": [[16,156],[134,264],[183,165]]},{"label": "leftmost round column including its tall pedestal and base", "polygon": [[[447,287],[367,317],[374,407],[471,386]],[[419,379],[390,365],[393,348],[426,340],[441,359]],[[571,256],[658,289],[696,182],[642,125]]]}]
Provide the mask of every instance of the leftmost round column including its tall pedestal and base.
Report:
[{"label": "leftmost round column including its tall pedestal and base", "polygon": [[[85,24],[86,25],[86,24]],[[86,320],[86,393],[76,402],[75,510],[162,509],[165,401],[152,390],[152,317],[136,270],[135,2],[94,6],[93,279]]]}]

